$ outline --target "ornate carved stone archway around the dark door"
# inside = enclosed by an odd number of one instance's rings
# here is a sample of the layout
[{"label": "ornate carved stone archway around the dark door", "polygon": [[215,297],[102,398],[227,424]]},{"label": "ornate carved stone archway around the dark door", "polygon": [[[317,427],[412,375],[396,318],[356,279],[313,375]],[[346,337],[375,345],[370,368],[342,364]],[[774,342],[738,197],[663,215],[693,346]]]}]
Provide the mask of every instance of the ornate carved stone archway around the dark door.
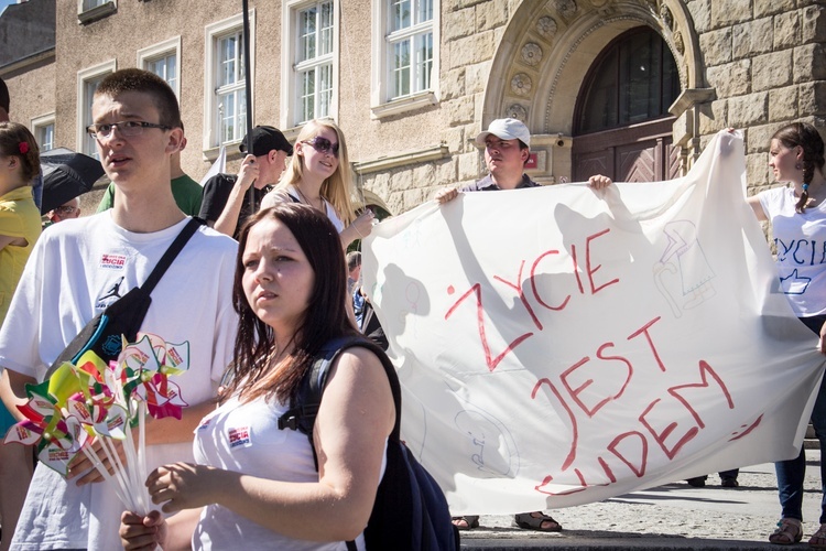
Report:
[{"label": "ornate carved stone archway around the dark door", "polygon": [[574,109],[588,68],[612,39],[640,25],[657,32],[674,55],[683,90],[672,106],[677,117],[674,144],[683,148],[684,158],[695,153],[697,106],[711,95],[705,88],[691,14],[677,0],[523,2],[493,57],[482,127],[503,116],[523,120],[537,155],[532,175],[553,183],[570,174]]}]

